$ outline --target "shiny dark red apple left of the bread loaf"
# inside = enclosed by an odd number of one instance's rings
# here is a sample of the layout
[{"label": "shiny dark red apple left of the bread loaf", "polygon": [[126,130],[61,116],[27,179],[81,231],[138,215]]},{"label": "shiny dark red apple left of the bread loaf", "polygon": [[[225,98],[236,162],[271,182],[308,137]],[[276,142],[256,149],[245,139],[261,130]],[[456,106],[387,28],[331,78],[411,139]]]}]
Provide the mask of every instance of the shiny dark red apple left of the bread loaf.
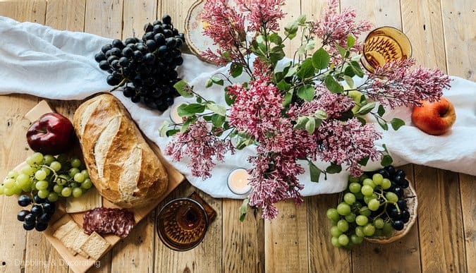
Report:
[{"label": "shiny dark red apple left of the bread loaf", "polygon": [[66,116],[47,113],[28,128],[27,141],[35,152],[54,155],[73,147],[73,135],[73,124]]}]

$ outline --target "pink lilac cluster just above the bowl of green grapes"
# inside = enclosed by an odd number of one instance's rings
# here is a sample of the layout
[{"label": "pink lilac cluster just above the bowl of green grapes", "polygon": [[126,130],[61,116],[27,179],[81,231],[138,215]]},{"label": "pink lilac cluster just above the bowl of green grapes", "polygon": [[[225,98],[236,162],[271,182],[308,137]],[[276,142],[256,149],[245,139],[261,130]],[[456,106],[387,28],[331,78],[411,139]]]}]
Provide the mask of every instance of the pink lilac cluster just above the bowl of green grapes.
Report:
[{"label": "pink lilac cluster just above the bowl of green grapes", "polygon": [[375,131],[374,126],[362,123],[358,119],[348,121],[324,121],[317,128],[319,157],[324,162],[346,164],[353,176],[360,176],[362,169],[358,162],[365,157],[372,160],[380,156],[374,147],[375,140],[382,135]]}]

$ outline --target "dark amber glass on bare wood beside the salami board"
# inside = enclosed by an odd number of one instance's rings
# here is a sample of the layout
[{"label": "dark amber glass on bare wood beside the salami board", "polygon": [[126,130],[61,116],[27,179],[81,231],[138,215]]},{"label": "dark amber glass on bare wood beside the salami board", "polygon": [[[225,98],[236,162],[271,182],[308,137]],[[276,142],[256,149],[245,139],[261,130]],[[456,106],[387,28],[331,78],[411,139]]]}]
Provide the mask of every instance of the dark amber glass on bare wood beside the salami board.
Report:
[{"label": "dark amber glass on bare wood beside the salami board", "polygon": [[197,193],[171,200],[159,211],[157,233],[168,248],[185,251],[195,248],[205,237],[216,212]]}]

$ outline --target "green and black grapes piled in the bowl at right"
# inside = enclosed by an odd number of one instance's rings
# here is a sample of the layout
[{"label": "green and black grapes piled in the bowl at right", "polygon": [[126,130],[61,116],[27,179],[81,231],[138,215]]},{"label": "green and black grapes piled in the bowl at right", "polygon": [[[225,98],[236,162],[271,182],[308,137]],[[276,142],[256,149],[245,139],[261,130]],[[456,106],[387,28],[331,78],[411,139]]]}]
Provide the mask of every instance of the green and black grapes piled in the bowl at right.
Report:
[{"label": "green and black grapes piled in the bowl at right", "polygon": [[331,243],[353,248],[365,237],[389,237],[410,219],[403,188],[408,187],[403,170],[388,166],[360,178],[349,176],[348,188],[335,208],[327,210],[331,220]]}]

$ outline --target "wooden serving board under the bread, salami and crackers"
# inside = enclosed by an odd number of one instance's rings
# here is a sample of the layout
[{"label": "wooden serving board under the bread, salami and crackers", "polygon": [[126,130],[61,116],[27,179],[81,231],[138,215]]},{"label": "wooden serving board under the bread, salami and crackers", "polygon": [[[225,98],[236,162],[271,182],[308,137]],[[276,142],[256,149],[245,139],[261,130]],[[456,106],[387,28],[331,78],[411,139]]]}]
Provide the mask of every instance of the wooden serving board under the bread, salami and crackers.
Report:
[{"label": "wooden serving board under the bread, salami and crackers", "polygon": [[[25,118],[28,119],[30,122],[36,121],[39,119],[39,116],[42,116],[42,114],[49,113],[53,111],[49,105],[47,104],[46,101],[41,101],[37,104],[37,106],[33,107],[27,114],[25,114]],[[179,171],[177,171],[173,166],[164,159],[164,157],[161,154],[161,151],[157,145],[154,144],[154,142],[150,141],[147,139],[145,136],[144,138],[147,140],[149,143],[149,146],[152,147],[152,150],[154,150],[155,154],[157,154],[157,157],[159,157],[161,163],[164,165],[164,167],[167,170],[167,173],[169,174],[169,187],[166,190],[166,193],[164,195],[160,196],[157,198],[156,202],[153,204],[147,206],[147,207],[141,207],[141,208],[135,208],[135,209],[128,209],[134,213],[134,218],[135,218],[135,223],[138,224],[142,219],[144,219],[149,212],[154,210],[157,205],[159,205],[159,202],[164,200],[169,193],[173,189],[175,189],[181,182],[185,180],[185,177],[183,174],[181,174]],[[16,170],[20,171],[20,169],[23,168],[23,166],[26,166],[26,163],[23,162],[16,166]],[[73,272],[80,273],[80,272],[86,272],[87,269],[90,269],[92,265],[94,265],[97,260],[94,260],[92,257],[85,258],[82,257],[81,255],[73,255],[71,253],[71,250],[68,250],[61,241],[59,241],[57,238],[53,236],[54,231],[61,225],[65,224],[68,222],[68,220],[73,219],[79,226],[83,226],[83,214],[84,212],[80,213],[71,213],[68,214],[66,213],[66,210],[64,209],[64,203],[63,202],[58,202],[59,206],[54,214],[54,216],[51,219],[51,222],[49,223],[49,228],[46,231],[43,231],[44,236],[47,238],[47,240],[51,243],[51,245],[56,248],[58,251],[59,255],[63,257],[63,259],[66,261],[68,266],[73,270]],[[102,206],[103,207],[117,207],[116,205],[112,204],[105,198],[102,198]],[[30,232],[37,232],[37,231],[30,231]],[[131,231],[134,232],[134,231]],[[115,235],[107,235],[103,236],[106,241],[108,241],[111,246],[108,248],[108,250],[104,253],[106,254],[111,250],[111,248],[118,243],[121,238]],[[103,254],[103,255],[104,255]]]}]

